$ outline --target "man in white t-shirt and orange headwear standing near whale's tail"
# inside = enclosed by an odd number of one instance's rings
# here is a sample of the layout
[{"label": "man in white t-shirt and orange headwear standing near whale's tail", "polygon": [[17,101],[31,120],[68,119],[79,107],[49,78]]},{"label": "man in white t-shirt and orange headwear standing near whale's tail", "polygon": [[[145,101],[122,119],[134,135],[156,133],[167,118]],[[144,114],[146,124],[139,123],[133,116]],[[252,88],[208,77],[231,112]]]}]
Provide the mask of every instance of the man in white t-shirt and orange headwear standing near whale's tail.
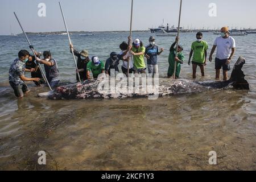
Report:
[{"label": "man in white t-shirt and orange headwear standing near whale's tail", "polygon": [[230,71],[230,63],[236,52],[236,41],[229,36],[229,28],[221,28],[221,36],[216,38],[210,52],[209,61],[212,62],[212,55],[217,48],[215,69],[216,80],[220,80],[220,70],[223,69],[223,80],[228,80],[228,71]]}]

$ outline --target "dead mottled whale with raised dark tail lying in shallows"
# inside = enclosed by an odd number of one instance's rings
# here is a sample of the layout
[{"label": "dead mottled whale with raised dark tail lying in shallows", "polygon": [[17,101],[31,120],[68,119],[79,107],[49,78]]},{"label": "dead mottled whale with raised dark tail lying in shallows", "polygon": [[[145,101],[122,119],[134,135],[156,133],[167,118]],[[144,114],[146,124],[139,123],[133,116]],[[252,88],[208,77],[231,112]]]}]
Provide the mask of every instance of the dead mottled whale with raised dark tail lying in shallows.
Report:
[{"label": "dead mottled whale with raised dark tail lying in shallows", "polygon": [[149,97],[154,99],[163,96],[203,92],[204,90],[209,89],[224,89],[229,87],[233,87],[234,89],[249,90],[249,83],[245,80],[245,75],[242,71],[243,64],[245,64],[245,59],[243,57],[239,57],[234,65],[230,80],[228,81],[196,82],[190,80],[171,80],[168,78],[159,78],[159,80],[152,81],[154,84],[150,85],[150,89],[148,89],[148,85],[143,85],[142,81],[140,81],[139,84],[133,83],[132,86],[130,86],[127,84],[126,80],[123,82],[121,79],[122,84],[120,84],[121,81],[114,84],[114,88],[116,88],[118,85],[121,89],[114,89],[114,92],[112,92],[112,87],[106,86],[106,84],[110,84],[109,80],[105,80],[105,82],[102,80],[88,80],[82,83],[60,86],[51,92],[40,93],[38,96],[46,97],[50,100],[109,99],[129,97]]}]

